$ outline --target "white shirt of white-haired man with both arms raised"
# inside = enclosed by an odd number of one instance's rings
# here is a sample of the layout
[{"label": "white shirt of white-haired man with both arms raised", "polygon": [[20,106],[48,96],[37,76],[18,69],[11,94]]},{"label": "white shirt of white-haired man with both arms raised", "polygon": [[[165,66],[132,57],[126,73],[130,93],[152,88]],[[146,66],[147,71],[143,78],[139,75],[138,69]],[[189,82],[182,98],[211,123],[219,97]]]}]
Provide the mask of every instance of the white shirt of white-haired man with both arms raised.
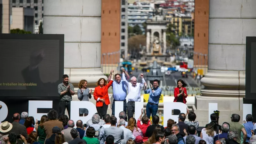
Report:
[{"label": "white shirt of white-haired man with both arms raised", "polygon": [[125,85],[127,86],[128,93],[130,93],[130,92],[136,92],[137,93],[137,95],[134,99],[128,99],[128,101],[141,101],[141,99],[140,99],[140,89],[143,88],[144,83],[146,83],[144,78],[141,78],[142,83],[136,83],[135,86],[133,86],[132,83],[130,83],[126,80],[124,74],[122,75],[122,79],[123,79]]}]

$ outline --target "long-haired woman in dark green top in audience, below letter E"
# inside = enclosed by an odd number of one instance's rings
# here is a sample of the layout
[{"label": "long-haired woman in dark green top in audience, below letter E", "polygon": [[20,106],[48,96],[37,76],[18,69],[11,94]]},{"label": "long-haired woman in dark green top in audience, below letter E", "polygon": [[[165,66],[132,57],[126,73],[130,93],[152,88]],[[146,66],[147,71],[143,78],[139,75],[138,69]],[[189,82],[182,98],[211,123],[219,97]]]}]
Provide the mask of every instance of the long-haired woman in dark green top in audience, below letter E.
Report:
[{"label": "long-haired woman in dark green top in audience, below letter E", "polygon": [[40,120],[40,124],[37,127],[37,133],[38,133],[38,142],[40,144],[44,144],[44,141],[46,139],[46,133],[44,130],[44,123],[48,121],[48,116],[43,115]]}]

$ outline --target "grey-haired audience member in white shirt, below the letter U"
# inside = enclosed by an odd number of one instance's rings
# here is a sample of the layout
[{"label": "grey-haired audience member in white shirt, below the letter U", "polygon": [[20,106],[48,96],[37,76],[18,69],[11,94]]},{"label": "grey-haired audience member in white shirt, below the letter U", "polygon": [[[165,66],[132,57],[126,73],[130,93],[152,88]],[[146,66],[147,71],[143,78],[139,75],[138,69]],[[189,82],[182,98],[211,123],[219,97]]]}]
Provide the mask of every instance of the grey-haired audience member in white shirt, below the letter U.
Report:
[{"label": "grey-haired audience member in white shirt, below the letter U", "polygon": [[118,121],[118,125],[119,125],[119,128],[124,130],[124,139],[121,140],[121,144],[125,144],[127,140],[135,140],[135,137],[134,135],[132,134],[132,131],[125,128],[125,120],[124,119],[120,119]]}]

